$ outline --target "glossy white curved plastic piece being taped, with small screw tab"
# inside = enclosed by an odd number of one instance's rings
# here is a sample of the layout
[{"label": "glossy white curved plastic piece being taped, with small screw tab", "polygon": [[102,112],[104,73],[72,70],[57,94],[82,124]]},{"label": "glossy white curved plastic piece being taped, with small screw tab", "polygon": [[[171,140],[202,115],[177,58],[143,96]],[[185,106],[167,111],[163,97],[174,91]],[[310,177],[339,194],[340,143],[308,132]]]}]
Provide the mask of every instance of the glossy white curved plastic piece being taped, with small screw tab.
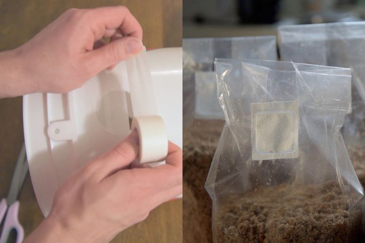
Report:
[{"label": "glossy white curved plastic piece being taped, with small screw tab", "polygon": [[[182,147],[182,48],[153,50],[147,55],[158,115],[164,120],[168,139]],[[128,135],[129,118],[123,115],[128,110],[126,68],[126,62],[121,62],[70,93],[23,97],[29,170],[45,216],[56,189],[70,174]],[[74,127],[62,122],[53,125],[60,121],[70,121]]]}]

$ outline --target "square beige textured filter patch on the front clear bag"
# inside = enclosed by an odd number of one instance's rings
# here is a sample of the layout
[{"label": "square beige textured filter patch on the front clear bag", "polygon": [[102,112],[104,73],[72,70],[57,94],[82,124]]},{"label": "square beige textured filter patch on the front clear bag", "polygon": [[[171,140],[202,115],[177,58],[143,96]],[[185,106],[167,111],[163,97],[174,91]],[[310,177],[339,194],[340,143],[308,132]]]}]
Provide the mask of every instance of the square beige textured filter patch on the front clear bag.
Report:
[{"label": "square beige textured filter patch on the front clear bag", "polygon": [[297,101],[252,103],[252,160],[297,158],[299,108]]}]

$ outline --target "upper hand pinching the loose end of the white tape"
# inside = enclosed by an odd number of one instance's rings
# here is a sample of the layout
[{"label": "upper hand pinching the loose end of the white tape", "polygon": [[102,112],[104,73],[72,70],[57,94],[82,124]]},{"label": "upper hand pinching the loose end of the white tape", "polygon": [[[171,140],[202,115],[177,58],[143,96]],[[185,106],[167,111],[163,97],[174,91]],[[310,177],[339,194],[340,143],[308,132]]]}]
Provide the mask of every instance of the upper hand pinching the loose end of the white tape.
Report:
[{"label": "upper hand pinching the loose end of the white tape", "polygon": [[69,9],[24,45],[0,53],[0,97],[71,91],[142,48],[142,28],[126,7]]}]

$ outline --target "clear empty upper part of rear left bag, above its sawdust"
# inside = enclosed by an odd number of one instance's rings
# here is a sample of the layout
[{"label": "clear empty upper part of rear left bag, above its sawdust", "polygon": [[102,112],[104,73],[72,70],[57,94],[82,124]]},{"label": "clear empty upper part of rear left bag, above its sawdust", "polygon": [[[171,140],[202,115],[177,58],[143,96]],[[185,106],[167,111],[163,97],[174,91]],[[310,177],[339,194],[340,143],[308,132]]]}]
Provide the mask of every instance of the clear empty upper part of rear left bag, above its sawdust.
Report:
[{"label": "clear empty upper part of rear left bag, above its sawdust", "polygon": [[[212,75],[215,58],[276,60],[275,36],[183,39],[184,125],[195,117],[224,118],[216,99],[215,75]],[[208,73],[196,75],[197,71]]]}]

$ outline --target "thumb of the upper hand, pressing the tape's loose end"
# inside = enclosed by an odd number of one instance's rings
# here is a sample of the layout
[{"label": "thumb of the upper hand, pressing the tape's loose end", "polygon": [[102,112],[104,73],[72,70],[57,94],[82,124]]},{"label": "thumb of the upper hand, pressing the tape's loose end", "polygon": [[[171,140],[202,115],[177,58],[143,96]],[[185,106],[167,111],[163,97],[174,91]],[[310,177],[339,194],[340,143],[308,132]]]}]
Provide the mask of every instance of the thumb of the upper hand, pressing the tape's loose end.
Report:
[{"label": "thumb of the upper hand, pressing the tape's loose end", "polygon": [[114,64],[142,52],[142,41],[136,37],[126,36],[115,39],[104,46],[87,52],[89,68],[97,74]]}]

